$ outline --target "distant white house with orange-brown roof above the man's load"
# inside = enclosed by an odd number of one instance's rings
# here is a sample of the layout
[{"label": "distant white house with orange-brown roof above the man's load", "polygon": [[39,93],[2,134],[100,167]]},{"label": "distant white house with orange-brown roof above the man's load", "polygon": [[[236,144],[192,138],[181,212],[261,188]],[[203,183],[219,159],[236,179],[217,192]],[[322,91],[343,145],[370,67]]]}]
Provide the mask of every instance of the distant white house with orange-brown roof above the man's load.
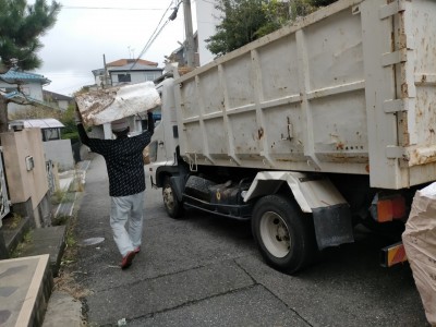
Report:
[{"label": "distant white house with orange-brown roof above the man's load", "polygon": [[119,59],[94,70],[93,74],[97,88],[100,88],[154,81],[162,75],[162,69],[157,62],[144,59]]}]

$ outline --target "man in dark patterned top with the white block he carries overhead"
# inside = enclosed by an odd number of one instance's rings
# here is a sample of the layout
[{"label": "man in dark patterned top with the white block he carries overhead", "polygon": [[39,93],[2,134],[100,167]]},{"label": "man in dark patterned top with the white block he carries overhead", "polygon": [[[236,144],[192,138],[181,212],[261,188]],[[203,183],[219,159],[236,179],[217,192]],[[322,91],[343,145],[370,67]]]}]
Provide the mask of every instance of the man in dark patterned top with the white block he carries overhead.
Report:
[{"label": "man in dark patterned top with the white block he carries overhead", "polygon": [[[154,84],[147,82],[82,94],[75,100],[81,141],[106,161],[111,203],[110,226],[122,256],[120,266],[125,269],[141,251],[145,196],[143,149],[154,133],[150,110],[160,105],[159,94]],[[147,111],[148,130],[129,137],[126,117],[142,111]],[[83,125],[108,122],[111,122],[116,140],[88,137]]]}]

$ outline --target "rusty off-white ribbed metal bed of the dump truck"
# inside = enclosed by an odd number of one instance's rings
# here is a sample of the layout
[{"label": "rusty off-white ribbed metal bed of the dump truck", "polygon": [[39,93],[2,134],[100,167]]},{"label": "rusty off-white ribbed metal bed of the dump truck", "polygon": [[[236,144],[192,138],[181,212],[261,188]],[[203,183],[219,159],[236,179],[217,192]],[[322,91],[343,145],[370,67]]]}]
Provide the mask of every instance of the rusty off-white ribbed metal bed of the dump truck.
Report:
[{"label": "rusty off-white ribbed metal bed of the dump truck", "polygon": [[195,165],[436,180],[436,1],[340,0],[178,78]]}]

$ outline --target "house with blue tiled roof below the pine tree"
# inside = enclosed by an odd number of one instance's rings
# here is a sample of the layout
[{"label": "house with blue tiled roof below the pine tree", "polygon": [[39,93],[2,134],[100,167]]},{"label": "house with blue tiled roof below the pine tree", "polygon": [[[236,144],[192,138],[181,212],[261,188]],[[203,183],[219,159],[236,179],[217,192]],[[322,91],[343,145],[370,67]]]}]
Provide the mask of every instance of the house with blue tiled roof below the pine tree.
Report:
[{"label": "house with blue tiled roof below the pine tree", "polygon": [[[44,104],[43,86],[51,83],[44,75],[12,68],[7,73],[1,74],[0,77],[0,90],[12,100],[8,105],[9,113],[31,109],[35,105],[51,107]],[[23,105],[27,102],[28,105]]]}]

